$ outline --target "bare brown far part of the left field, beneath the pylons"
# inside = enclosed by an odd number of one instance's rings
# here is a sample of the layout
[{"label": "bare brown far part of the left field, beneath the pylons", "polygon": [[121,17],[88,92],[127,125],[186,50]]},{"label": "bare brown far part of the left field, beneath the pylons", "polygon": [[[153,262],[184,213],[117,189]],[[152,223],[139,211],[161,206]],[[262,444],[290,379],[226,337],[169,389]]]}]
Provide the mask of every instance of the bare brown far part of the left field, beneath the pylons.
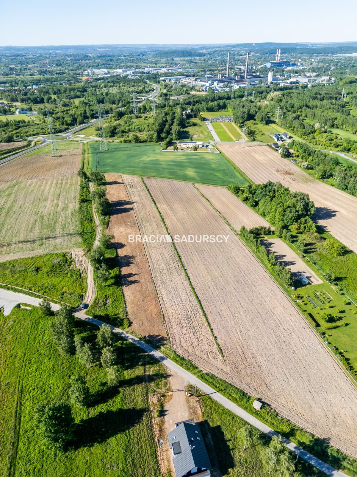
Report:
[{"label": "bare brown far part of the left field, beneath the pylons", "polygon": [[[73,144],[73,143],[69,143]],[[80,167],[81,144],[62,149],[60,157],[49,154],[20,156],[0,165],[1,182],[18,180],[43,180],[69,177],[77,174]]]}]

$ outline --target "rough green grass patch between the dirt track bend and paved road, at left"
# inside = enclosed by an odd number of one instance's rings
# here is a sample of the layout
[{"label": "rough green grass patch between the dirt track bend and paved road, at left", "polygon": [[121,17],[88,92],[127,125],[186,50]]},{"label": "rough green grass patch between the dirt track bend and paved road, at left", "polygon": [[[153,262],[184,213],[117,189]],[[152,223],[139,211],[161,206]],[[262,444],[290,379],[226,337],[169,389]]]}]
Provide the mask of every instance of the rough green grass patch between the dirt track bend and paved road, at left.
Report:
[{"label": "rough green grass patch between the dirt track bend and paved road, at left", "polygon": [[[69,253],[0,262],[0,282],[79,306],[87,290]],[[14,290],[16,291],[16,290]]]}]

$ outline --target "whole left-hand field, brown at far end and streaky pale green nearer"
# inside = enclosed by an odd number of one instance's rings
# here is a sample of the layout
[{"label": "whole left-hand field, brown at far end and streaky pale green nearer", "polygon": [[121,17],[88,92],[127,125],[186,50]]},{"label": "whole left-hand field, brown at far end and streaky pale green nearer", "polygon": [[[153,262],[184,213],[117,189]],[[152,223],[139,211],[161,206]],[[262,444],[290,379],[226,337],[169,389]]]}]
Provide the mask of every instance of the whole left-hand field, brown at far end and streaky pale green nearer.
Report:
[{"label": "whole left-hand field, brown at far end and streaky pale green nearer", "polygon": [[37,151],[0,165],[1,261],[80,243],[80,145],[61,145],[61,157],[52,157],[47,146]]}]

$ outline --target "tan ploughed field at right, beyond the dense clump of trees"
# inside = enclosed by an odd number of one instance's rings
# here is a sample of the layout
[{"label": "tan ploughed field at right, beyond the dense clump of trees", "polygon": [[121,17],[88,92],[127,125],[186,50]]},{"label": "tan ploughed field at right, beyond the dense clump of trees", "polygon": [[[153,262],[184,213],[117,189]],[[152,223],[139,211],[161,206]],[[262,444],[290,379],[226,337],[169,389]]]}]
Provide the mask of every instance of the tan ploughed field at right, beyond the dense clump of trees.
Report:
[{"label": "tan ploughed field at right, beyond the dense clump of trees", "polygon": [[314,179],[267,146],[221,144],[220,149],[255,183],[271,180],[306,192],[315,202],[317,223],[357,252],[357,197]]}]

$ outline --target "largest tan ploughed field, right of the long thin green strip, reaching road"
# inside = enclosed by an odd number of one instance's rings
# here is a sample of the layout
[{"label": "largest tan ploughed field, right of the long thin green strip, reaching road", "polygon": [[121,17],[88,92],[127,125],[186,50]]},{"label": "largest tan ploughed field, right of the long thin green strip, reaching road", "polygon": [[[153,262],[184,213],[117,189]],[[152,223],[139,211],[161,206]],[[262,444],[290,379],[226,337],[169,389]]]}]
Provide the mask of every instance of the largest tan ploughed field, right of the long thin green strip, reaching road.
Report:
[{"label": "largest tan ploughed field, right of the long thin green strip, reaching road", "polygon": [[228,364],[211,372],[357,456],[357,389],[316,332],[192,185],[145,182],[172,236],[229,235],[176,244]]}]

